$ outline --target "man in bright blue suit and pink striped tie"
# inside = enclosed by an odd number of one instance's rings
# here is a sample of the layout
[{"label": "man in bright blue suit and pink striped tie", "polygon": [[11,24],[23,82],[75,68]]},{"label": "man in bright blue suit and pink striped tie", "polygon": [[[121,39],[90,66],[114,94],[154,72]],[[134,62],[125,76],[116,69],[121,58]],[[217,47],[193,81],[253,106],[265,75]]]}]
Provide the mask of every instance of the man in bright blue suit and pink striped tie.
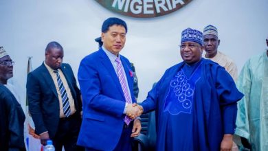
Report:
[{"label": "man in bright blue suit and pink striped tie", "polygon": [[[83,120],[78,145],[86,150],[131,150],[139,135],[139,119],[133,105],[133,71],[120,55],[126,42],[126,23],[109,18],[102,24],[102,47],[80,62],[78,81],[82,93]],[[132,116],[134,118],[134,116]]]}]

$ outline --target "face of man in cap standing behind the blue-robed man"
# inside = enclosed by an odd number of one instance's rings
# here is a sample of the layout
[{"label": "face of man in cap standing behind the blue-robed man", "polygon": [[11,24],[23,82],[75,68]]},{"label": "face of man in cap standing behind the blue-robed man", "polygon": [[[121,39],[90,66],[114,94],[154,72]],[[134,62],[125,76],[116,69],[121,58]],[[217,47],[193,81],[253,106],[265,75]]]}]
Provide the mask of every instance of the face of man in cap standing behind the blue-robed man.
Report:
[{"label": "face of man in cap standing behind the blue-robed man", "polygon": [[206,56],[208,58],[212,58],[216,55],[218,46],[220,45],[220,40],[217,36],[213,34],[207,34],[203,37],[204,49],[206,52]]}]

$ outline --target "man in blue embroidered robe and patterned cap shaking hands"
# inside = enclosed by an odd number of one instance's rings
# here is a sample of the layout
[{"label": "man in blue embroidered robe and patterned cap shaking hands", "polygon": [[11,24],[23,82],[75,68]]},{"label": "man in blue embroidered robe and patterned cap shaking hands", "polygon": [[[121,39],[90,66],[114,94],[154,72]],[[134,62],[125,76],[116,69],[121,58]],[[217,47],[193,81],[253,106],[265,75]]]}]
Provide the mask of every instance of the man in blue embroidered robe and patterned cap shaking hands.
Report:
[{"label": "man in blue embroidered robe and patterned cap shaking hands", "polygon": [[236,102],[227,71],[203,59],[203,34],[181,33],[183,62],[167,69],[141,106],[156,111],[157,150],[231,150]]}]

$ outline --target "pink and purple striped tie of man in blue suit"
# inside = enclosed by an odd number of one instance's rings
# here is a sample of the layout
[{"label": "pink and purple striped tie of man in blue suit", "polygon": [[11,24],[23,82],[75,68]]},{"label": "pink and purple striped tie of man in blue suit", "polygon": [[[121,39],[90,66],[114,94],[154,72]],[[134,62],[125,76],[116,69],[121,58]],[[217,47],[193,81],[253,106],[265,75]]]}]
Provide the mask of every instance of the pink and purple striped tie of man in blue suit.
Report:
[{"label": "pink and purple striped tie of man in blue suit", "polygon": [[[122,87],[122,90],[124,92],[124,97],[126,99],[126,103],[128,104],[132,104],[131,102],[131,97],[129,95],[129,91],[126,87],[126,80],[124,78],[124,73],[123,73],[123,68],[122,68],[122,63],[120,58],[116,58],[115,62],[117,64],[117,68],[118,68],[118,78]],[[128,116],[124,117],[124,122],[129,125],[129,123],[131,122],[131,118],[129,118]]]}]

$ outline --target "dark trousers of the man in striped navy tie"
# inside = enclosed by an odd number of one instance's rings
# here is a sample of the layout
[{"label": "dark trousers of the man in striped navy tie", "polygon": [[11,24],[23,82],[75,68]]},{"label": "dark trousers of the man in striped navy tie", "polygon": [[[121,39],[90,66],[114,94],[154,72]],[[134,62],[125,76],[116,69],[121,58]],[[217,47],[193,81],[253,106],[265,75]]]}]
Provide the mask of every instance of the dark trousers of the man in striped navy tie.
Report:
[{"label": "dark trousers of the man in striped navy tie", "polygon": [[52,139],[55,151],[82,151],[82,147],[76,146],[78,134],[82,119],[79,114],[74,114],[69,117],[60,118],[58,130],[54,139]]}]

